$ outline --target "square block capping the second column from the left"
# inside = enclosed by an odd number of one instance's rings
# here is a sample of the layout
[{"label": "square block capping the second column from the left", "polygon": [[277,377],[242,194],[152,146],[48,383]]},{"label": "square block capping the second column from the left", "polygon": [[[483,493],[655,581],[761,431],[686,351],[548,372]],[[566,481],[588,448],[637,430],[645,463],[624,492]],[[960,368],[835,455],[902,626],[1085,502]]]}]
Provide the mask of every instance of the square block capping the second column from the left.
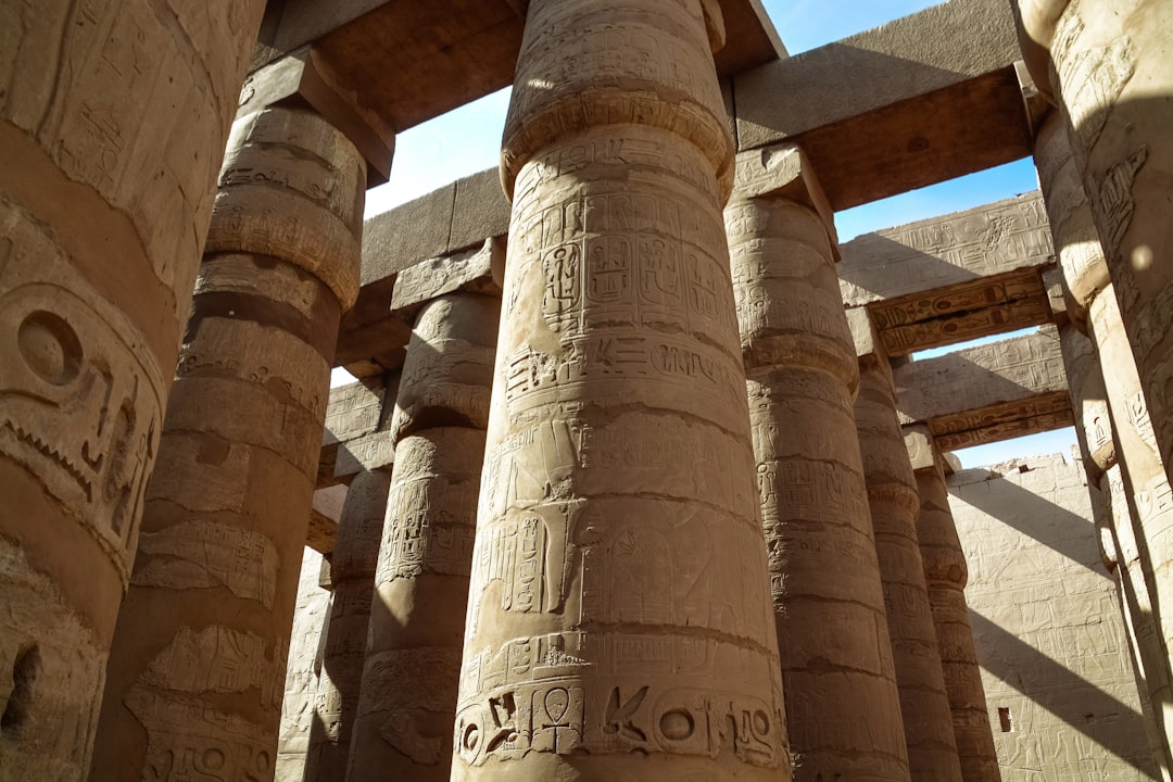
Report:
[{"label": "square block capping the second column from the left", "polygon": [[395,131],[360,103],[353,87],[312,48],[305,47],[249,75],[240,91],[237,117],[285,103],[307,106],[346,134],[367,162],[367,186],[391,174]]}]

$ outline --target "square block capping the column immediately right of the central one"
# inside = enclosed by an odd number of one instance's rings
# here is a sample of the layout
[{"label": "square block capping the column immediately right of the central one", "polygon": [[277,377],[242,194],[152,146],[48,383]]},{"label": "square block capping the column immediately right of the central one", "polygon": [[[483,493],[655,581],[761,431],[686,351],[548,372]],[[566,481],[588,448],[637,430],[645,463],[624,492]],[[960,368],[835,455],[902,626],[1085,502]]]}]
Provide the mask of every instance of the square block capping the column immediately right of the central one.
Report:
[{"label": "square block capping the column immediately right of the central one", "polygon": [[733,197],[786,198],[808,206],[822,218],[835,260],[839,260],[839,236],[835,233],[835,210],[827,200],[811,158],[796,144],[782,143],[751,149],[737,156]]}]

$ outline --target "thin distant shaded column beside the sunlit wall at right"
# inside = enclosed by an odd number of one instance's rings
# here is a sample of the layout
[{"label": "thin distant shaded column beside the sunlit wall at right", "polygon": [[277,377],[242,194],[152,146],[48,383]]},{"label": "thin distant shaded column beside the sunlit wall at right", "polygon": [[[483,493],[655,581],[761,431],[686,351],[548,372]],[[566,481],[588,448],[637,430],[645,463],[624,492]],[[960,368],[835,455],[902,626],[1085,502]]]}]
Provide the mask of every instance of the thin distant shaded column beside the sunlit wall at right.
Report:
[{"label": "thin distant shaded column beside the sunlit wall at right", "polygon": [[949,509],[949,490],[941,470],[941,457],[933,436],[921,424],[904,427],[904,441],[921,496],[916,538],[924,562],[924,582],[937,630],[937,648],[941,651],[945,692],[952,712],[962,778],[965,782],[997,782],[1002,773],[985,707],[982,669],[974,650],[969,608],[965,606],[969,569]]}]

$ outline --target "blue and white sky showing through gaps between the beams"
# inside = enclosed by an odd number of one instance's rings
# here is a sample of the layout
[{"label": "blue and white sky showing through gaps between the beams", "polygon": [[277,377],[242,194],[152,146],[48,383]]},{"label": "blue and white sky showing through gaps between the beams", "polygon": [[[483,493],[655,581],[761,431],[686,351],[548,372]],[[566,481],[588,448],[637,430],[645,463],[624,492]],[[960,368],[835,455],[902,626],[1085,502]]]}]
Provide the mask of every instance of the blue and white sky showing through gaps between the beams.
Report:
[{"label": "blue and white sky showing through gaps between the beams", "polygon": [[[930,0],[762,0],[789,54],[799,54],[937,5]],[[509,106],[504,89],[412,128],[395,141],[391,181],[367,193],[367,217],[495,166]],[[1009,198],[1038,188],[1035,166],[1017,161],[835,215],[841,242],[860,233]],[[956,346],[950,349],[956,349]],[[335,373],[334,382],[348,378]],[[1072,429],[958,451],[965,467],[1060,451]]]}]

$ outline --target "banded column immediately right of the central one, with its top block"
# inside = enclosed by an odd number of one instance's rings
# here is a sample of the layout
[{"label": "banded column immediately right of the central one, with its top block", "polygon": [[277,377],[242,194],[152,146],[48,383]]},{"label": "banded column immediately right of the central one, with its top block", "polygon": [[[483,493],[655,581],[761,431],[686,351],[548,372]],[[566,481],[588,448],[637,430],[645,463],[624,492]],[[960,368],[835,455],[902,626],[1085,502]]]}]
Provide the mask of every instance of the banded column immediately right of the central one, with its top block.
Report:
[{"label": "banded column immediately right of the central one, with its top block", "polygon": [[908,780],[830,210],[796,148],[738,156],[725,211],[794,778]]}]

